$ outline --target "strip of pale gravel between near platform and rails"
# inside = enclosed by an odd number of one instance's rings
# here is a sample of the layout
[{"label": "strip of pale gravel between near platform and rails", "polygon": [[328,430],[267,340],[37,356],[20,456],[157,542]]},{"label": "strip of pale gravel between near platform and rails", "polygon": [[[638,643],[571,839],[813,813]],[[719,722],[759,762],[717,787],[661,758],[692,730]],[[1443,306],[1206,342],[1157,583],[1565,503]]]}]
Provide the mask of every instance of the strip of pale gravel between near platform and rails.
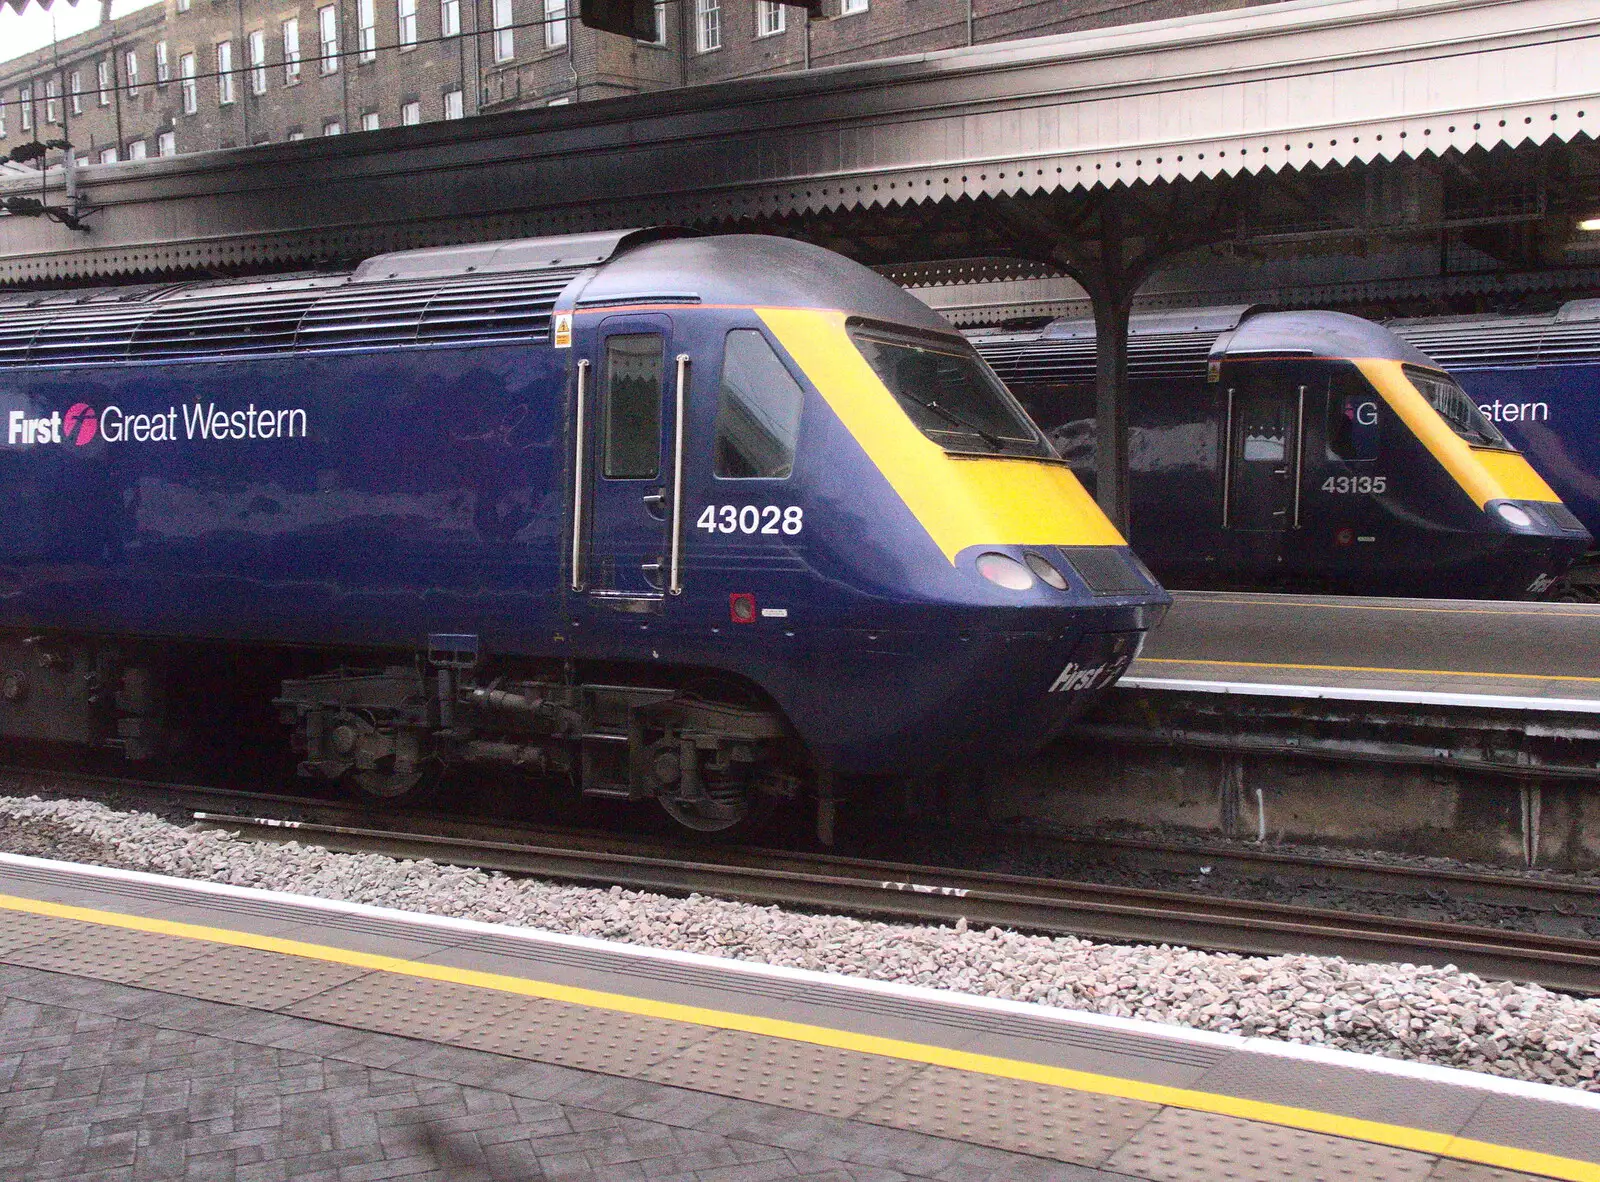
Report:
[{"label": "strip of pale gravel between near platform and rails", "polygon": [[317,846],[149,813],[0,797],[0,849],[656,948],[1312,1043],[1600,1091],[1600,1000],[1454,966],[1240,956],[610,891]]}]

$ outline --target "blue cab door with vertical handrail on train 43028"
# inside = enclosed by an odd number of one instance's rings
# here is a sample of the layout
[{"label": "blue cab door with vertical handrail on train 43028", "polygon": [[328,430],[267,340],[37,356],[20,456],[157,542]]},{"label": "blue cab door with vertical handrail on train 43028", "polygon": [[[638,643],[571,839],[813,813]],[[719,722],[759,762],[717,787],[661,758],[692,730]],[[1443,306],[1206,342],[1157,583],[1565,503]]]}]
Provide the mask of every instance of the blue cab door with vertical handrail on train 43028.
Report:
[{"label": "blue cab door with vertical handrail on train 43028", "polygon": [[598,609],[669,592],[678,368],[662,315],[608,317],[578,358],[571,590]]}]

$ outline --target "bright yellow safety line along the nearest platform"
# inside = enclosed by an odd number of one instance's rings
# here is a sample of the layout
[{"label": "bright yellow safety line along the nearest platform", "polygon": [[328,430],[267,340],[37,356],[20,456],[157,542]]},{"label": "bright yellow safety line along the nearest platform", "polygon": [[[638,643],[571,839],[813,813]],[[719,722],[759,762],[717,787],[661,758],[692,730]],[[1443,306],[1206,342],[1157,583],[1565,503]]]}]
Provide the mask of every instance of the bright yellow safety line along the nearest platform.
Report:
[{"label": "bright yellow safety line along the nearest platform", "polygon": [[109,928],[125,928],[130,931],[152,932],[158,936],[206,940],[210,944],[224,944],[237,948],[277,952],[286,956],[304,956],[307,960],[349,964],[350,968],[371,969],[376,972],[395,972],[424,980],[445,980],[454,985],[474,985],[477,988],[491,988],[501,993],[520,993],[523,996],[542,998],[547,1001],[565,1001],[568,1004],[610,1009],[622,1014],[637,1014],[640,1017],[658,1017],[669,1022],[686,1022],[717,1030],[738,1030],[749,1035],[784,1038],[795,1043],[810,1043],[813,1046],[830,1046],[840,1051],[875,1054],[888,1059],[902,1059],[906,1062],[952,1067],[960,1072],[992,1075],[1003,1080],[1024,1080],[1027,1083],[1040,1083],[1051,1088],[1069,1088],[1072,1091],[1094,1092],[1098,1096],[1115,1096],[1126,1100],[1142,1100],[1146,1104],[1190,1108],[1194,1112],[1210,1112],[1221,1116],[1238,1116],[1242,1120],[1280,1124],[1291,1129],[1304,1129],[1307,1132],[1323,1132],[1349,1140],[1365,1140],[1416,1153],[1430,1153],[1442,1158],[1501,1166],[1504,1169],[1514,1169],[1525,1174],[1542,1174],[1547,1177],[1566,1179],[1568,1182],[1600,1182],[1600,1163],[1594,1161],[1563,1158],[1554,1153],[1539,1153],[1536,1150],[1515,1148],[1512,1145],[1496,1145],[1485,1140],[1470,1140],[1450,1132],[1413,1129],[1403,1124],[1387,1124],[1382,1121],[1362,1120],[1358,1116],[1339,1116],[1330,1112],[1294,1108],[1285,1104],[1248,1100],[1237,1096],[1202,1092],[1190,1088],[1173,1088],[1162,1083],[1144,1083],[1142,1080],[1122,1080],[1114,1075],[1077,1072],[1069,1067],[1030,1064],[1022,1059],[1003,1059],[1000,1056],[955,1051],[926,1043],[910,1043],[901,1038],[883,1038],[880,1035],[830,1030],[827,1027],[810,1025],[805,1022],[786,1022],[782,1019],[757,1017],[754,1014],[704,1009],[701,1006],[685,1006],[677,1001],[653,1001],[648,998],[629,996],[626,993],[606,993],[594,988],[579,988],[576,985],[557,985],[547,980],[512,977],[502,972],[480,972],[478,969],[461,969],[450,964],[429,964],[424,961],[402,960],[398,956],[381,956],[371,952],[352,952],[349,948],[336,948],[323,944],[290,940],[280,936],[258,936],[254,932],[230,931],[227,928],[208,928],[194,923],[178,923],[174,920],[152,920],[142,915],[102,912],[91,907],[22,899],[10,894],[0,894],[0,908],[24,912],[29,915],[48,915],[58,920],[78,920],[82,923],[96,923]]}]

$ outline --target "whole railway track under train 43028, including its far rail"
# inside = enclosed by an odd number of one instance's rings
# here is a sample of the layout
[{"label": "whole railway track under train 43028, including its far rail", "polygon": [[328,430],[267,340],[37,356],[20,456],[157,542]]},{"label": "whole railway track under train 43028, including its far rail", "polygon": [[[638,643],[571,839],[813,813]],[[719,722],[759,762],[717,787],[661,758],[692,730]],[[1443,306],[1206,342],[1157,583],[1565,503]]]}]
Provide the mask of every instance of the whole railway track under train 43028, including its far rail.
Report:
[{"label": "whole railway track under train 43028, including its far rail", "polygon": [[[254,840],[429,857],[584,885],[667,894],[698,891],[912,921],[954,923],[965,916],[970,924],[1259,955],[1312,952],[1368,961],[1453,963],[1490,977],[1600,993],[1600,940],[1570,936],[893,861],[691,848],[616,833],[491,825],[470,817],[379,817],[315,797],[0,766],[0,792],[30,789],[83,793],[118,805],[131,798]],[[1395,894],[1448,889],[1461,899],[1507,907],[1600,913],[1600,886],[1584,883],[1139,840],[1054,835],[1043,840],[1083,856],[1130,856],[1186,872],[1211,865],[1235,875],[1302,873],[1352,889]]]}]

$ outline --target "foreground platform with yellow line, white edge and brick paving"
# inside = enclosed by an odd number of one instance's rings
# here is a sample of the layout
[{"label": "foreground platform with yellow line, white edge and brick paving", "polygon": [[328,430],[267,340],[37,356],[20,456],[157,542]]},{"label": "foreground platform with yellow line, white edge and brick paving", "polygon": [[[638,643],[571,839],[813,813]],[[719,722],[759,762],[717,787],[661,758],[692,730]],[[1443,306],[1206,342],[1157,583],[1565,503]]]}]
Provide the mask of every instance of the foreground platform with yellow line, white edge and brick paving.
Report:
[{"label": "foreground platform with yellow line, white edge and brick paving", "polygon": [[1600,1180],[1600,1096],[0,856],[10,1177]]}]

